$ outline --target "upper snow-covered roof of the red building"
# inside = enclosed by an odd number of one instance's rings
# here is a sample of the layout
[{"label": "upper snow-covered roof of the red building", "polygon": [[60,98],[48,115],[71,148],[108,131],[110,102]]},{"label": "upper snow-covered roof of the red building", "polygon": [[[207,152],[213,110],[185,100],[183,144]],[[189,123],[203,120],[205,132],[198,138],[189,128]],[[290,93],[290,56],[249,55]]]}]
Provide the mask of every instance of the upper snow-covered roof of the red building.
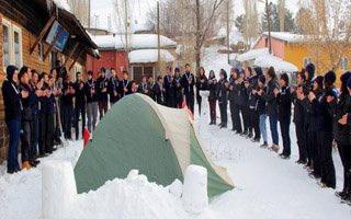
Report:
[{"label": "upper snow-covered roof of the red building", "polygon": [[[124,49],[125,48],[125,35],[103,35],[94,36],[92,38],[99,48],[112,48]],[[157,48],[157,35],[156,34],[132,34],[128,36],[131,49],[151,49]],[[177,43],[166,36],[160,37],[161,48],[177,47]]]}]

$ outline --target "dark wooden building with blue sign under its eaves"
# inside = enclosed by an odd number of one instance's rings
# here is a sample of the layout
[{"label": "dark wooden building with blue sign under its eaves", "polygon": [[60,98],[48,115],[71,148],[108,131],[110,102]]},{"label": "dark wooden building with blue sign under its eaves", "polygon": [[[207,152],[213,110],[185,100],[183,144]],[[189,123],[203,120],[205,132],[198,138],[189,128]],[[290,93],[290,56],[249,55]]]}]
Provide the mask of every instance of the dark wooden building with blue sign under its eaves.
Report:
[{"label": "dark wooden building with blue sign under its eaves", "polygon": [[[48,5],[49,4],[49,5]],[[86,70],[87,54],[98,46],[59,0],[0,0],[0,84],[8,65],[49,72],[60,59],[70,74]],[[7,158],[8,131],[0,95],[0,161]]]}]

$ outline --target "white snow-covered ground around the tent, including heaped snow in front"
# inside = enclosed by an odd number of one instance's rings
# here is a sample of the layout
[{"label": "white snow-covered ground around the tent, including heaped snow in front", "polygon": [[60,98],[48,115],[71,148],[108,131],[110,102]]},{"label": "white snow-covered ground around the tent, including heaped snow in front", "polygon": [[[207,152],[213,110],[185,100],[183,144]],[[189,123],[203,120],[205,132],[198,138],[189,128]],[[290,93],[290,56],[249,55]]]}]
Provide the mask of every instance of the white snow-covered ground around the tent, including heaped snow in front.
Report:
[{"label": "white snow-covered ground around the tent, including heaped snow in front", "polygon": [[[213,60],[205,65],[206,70],[227,68],[220,67],[226,60],[223,55],[213,51],[213,56],[207,57],[210,59]],[[261,149],[258,143],[229,129],[208,126],[206,119],[200,122],[197,114],[195,119],[202,142],[215,163],[227,169],[236,188],[212,199],[201,215],[192,215],[184,210],[181,199],[170,194],[168,187],[148,183],[144,176],[116,178],[97,192],[79,195],[67,210],[67,218],[351,218],[351,207],[340,204],[333,189],[320,188],[306,170],[295,163],[298,154],[293,124],[292,157],[282,160],[276,153]],[[230,119],[228,127],[231,127]],[[82,141],[69,142],[66,149],[59,148],[42,161],[67,160],[73,166],[81,151]],[[336,151],[333,160],[339,191],[342,186],[342,166]],[[5,173],[4,164],[0,165],[0,218],[41,217],[42,164],[13,175]]]}]

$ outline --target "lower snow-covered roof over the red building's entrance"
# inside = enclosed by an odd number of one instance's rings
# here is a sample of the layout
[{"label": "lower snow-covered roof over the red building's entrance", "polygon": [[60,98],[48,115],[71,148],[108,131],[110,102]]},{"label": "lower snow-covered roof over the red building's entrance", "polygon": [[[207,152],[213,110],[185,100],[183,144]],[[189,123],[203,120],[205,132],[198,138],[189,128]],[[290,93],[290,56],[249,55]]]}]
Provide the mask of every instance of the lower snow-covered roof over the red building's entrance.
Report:
[{"label": "lower snow-covered roof over the red building's entrance", "polygon": [[[174,57],[166,49],[160,50],[161,60],[166,62],[174,61]],[[137,49],[128,54],[131,64],[154,64],[158,61],[157,49]]]}]

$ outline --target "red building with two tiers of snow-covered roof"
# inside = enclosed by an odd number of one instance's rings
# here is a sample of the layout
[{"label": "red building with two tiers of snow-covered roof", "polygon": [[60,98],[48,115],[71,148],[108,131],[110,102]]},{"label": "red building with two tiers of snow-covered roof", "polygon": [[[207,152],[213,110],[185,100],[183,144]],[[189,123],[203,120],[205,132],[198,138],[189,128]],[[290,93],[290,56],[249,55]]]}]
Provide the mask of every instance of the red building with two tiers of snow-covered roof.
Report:
[{"label": "red building with two tiers of snow-covered roof", "polygon": [[[115,68],[120,78],[124,70],[129,70],[131,78],[135,81],[139,81],[143,76],[157,76],[158,37],[156,34],[131,34],[127,35],[127,41],[126,36],[121,34],[100,35],[92,38],[99,47],[101,59],[88,56],[87,69],[92,69],[95,77],[102,67]],[[162,66],[174,67],[177,43],[161,36],[160,47]],[[128,48],[129,53],[126,53],[125,48]]]}]

